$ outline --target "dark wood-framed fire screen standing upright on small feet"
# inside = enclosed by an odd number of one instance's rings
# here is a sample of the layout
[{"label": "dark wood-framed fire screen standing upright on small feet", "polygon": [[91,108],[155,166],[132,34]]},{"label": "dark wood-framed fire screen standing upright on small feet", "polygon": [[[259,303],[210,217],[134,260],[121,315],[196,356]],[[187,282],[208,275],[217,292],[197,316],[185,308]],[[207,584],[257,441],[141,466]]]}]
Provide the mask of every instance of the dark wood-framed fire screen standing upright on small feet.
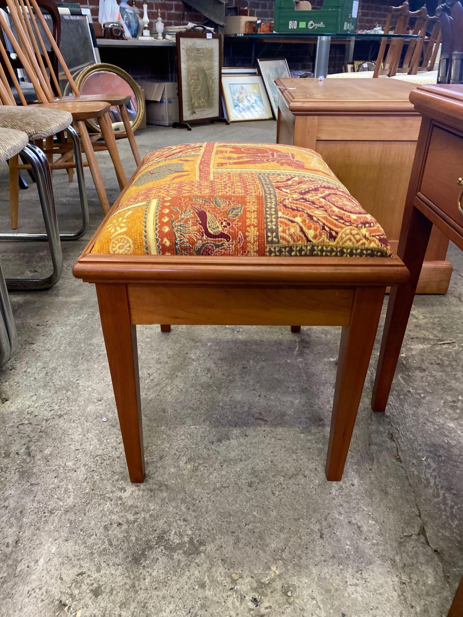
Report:
[{"label": "dark wood-framed fire screen standing upright on small feet", "polygon": [[173,126],[217,120],[222,104],[220,77],[222,36],[211,33],[179,32],[176,37],[178,62],[178,114]]}]

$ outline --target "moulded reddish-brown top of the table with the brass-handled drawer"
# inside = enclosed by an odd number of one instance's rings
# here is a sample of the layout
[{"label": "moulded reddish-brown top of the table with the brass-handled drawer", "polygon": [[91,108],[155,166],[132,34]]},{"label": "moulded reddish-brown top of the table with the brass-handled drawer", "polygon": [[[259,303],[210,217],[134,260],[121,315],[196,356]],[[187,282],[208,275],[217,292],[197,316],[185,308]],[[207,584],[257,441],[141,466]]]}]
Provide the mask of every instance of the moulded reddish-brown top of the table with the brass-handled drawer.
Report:
[{"label": "moulded reddish-brown top of the table with the brass-handled drawer", "polygon": [[463,86],[419,86],[411,93],[410,100],[420,114],[463,131]]}]

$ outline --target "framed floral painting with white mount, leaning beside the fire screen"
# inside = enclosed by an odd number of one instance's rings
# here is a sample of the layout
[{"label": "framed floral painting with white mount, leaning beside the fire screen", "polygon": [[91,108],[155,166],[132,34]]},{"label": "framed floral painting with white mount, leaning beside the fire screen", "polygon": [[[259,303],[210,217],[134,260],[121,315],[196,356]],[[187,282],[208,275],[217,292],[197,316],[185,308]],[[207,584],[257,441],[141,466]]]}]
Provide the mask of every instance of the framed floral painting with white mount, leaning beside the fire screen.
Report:
[{"label": "framed floral painting with white mount, leaning beside the fire screen", "polygon": [[272,118],[272,109],[260,75],[223,75],[222,89],[230,122]]}]

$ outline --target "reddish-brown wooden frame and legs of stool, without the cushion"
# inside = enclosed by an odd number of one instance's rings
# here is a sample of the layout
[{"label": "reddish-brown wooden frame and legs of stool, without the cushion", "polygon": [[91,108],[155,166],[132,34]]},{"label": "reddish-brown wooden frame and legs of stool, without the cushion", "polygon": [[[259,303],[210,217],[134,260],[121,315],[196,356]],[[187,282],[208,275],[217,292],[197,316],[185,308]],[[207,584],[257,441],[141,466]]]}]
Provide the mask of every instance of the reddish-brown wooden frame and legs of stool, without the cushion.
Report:
[{"label": "reddish-brown wooden frame and legs of stool, without the cushion", "polygon": [[136,347],[136,326],[142,324],[342,326],[325,468],[328,480],[340,480],[385,289],[407,280],[409,273],[403,262],[396,255],[288,258],[93,254],[92,247],[106,220],[79,257],[73,274],[96,284],[130,480],[144,480]]}]

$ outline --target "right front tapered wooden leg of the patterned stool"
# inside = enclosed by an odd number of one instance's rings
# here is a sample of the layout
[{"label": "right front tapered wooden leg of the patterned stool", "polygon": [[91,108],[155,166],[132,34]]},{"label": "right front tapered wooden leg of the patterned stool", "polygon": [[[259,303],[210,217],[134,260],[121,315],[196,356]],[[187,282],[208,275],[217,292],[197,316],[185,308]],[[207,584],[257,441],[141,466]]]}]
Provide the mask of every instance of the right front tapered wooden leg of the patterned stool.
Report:
[{"label": "right front tapered wooden leg of the patterned stool", "polygon": [[385,288],[357,288],[351,323],[341,331],[325,467],[328,480],[340,480],[343,477],[385,291]]}]

